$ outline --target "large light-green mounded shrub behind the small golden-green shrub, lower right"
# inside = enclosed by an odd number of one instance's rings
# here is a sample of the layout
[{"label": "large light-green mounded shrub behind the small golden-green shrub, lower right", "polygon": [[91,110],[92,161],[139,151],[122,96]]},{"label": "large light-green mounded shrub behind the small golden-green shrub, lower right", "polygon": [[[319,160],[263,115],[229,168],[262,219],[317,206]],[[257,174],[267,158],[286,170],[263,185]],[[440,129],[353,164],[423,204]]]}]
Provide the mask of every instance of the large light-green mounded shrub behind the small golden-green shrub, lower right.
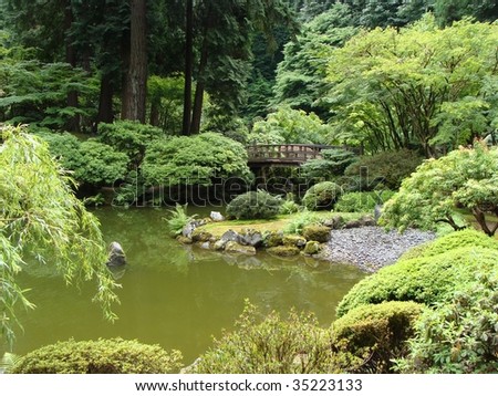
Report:
[{"label": "large light-green mounded shrub behind the small golden-green shrub, lower right", "polygon": [[496,267],[498,251],[460,248],[446,253],[402,260],[356,283],[338,305],[342,316],[362,304],[383,301],[415,301],[427,305],[444,301],[458,284]]}]

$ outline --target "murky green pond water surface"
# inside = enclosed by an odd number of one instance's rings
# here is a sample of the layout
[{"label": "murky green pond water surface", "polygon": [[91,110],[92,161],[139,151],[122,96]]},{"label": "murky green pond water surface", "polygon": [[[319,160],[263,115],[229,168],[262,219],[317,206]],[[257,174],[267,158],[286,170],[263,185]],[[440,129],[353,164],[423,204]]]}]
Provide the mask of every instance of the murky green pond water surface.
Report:
[{"label": "murky green pond water surface", "polygon": [[24,354],[59,340],[121,336],[180,350],[193,362],[231,329],[245,299],[263,312],[312,311],[329,325],[339,300],[364,277],[355,268],[312,259],[276,259],[266,253],[231,257],[183,247],[167,236],[160,209],[96,210],[105,239],[118,241],[128,264],[120,278],[120,316],[106,322],[91,302],[93,284],[66,288],[40,269],[23,273],[22,284],[37,304],[19,312],[24,331],[18,332],[14,353]]}]

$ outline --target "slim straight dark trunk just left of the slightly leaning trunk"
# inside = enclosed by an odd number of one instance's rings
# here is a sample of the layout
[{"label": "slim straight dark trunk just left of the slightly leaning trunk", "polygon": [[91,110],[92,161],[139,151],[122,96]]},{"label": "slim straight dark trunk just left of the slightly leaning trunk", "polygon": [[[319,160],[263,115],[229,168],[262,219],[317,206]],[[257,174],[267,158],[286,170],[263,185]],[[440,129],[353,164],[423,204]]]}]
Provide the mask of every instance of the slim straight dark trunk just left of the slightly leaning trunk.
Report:
[{"label": "slim straight dark trunk just left of the slightly leaning trunk", "polygon": [[194,70],[194,0],[187,0],[185,23],[185,86],[183,134],[190,135],[191,79]]}]

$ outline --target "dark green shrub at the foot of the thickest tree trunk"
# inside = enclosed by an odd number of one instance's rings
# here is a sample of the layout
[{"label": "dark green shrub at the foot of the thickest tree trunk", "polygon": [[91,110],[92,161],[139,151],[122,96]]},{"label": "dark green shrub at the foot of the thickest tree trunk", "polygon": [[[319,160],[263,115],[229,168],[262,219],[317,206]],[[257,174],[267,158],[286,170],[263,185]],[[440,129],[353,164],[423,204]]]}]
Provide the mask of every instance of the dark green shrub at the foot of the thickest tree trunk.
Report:
[{"label": "dark green shrub at the foot of the thickest tree trunk", "polygon": [[135,166],[141,165],[147,145],[162,136],[164,136],[164,133],[159,128],[133,121],[98,124],[100,142],[126,154]]}]

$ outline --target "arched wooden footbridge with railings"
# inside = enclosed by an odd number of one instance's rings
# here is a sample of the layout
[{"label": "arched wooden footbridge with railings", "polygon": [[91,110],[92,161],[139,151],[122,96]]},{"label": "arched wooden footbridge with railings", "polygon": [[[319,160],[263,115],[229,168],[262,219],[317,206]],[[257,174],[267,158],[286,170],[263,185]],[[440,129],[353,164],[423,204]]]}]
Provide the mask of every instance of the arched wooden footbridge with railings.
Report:
[{"label": "arched wooden footbridge with railings", "polygon": [[[250,145],[247,146],[248,165],[263,166],[300,166],[309,159],[322,158],[322,149],[339,148],[323,145]],[[344,148],[344,147],[342,147]]]}]

